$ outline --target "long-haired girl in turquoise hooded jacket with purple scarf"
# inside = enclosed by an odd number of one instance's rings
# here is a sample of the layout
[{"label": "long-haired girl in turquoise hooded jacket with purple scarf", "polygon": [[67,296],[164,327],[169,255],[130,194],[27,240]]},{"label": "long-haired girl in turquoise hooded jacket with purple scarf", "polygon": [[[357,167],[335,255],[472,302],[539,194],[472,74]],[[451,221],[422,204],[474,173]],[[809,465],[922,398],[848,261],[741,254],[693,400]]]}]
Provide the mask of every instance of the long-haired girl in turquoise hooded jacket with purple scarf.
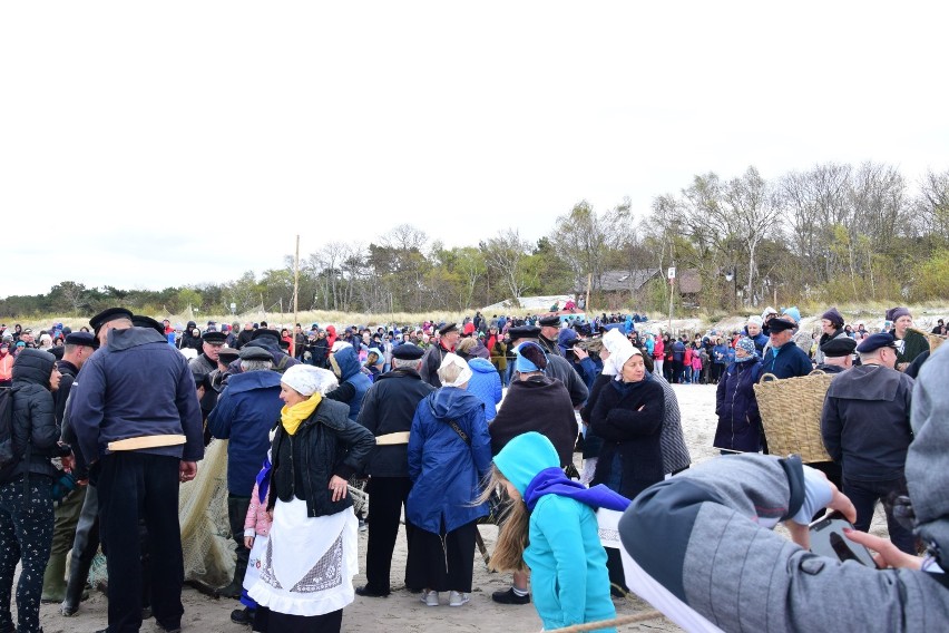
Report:
[{"label": "long-haired girl in turquoise hooded jacket with purple scarf", "polygon": [[548,631],[616,617],[595,510],[629,505],[606,486],[568,479],[559,465],[549,439],[526,432],[495,457],[488,487],[503,486],[510,498],[491,566],[530,569],[534,605]]}]

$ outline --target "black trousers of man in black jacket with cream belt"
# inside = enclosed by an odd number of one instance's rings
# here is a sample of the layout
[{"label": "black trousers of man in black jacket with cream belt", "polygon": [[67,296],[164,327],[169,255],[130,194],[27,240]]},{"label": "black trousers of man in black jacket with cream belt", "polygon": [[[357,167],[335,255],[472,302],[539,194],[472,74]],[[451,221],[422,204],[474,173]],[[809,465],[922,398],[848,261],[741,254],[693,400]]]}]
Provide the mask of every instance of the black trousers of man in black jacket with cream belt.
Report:
[{"label": "black trousers of man in black jacket with cream belt", "polygon": [[[374,593],[389,593],[389,574],[392,569],[392,552],[399,537],[399,519],[411,489],[412,480],[408,477],[372,477],[366,486],[372,504],[372,522],[369,524],[365,578],[366,586]],[[409,547],[412,545],[413,529],[411,524],[405,523]]]}]

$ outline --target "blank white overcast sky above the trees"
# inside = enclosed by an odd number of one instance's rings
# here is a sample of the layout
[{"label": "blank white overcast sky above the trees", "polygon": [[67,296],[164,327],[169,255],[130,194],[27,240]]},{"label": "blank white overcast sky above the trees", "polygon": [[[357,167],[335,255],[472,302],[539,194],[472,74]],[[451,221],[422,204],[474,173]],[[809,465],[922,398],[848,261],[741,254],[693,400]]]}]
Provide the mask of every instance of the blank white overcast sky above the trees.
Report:
[{"label": "blank white overcast sky above the trees", "polygon": [[0,296],[535,240],[697,173],[949,168],[945,2],[4,2]]}]

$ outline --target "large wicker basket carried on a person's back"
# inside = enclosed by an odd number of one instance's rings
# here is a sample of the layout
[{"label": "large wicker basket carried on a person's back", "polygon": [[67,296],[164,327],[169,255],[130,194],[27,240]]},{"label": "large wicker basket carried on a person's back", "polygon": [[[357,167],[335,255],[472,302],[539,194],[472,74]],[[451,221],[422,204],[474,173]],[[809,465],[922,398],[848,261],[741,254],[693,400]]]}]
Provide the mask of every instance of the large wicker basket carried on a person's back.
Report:
[{"label": "large wicker basket carried on a person's back", "polygon": [[779,380],[765,373],[754,386],[761,422],[772,455],[796,454],[805,462],[831,461],[821,437],[821,412],[833,374]]}]

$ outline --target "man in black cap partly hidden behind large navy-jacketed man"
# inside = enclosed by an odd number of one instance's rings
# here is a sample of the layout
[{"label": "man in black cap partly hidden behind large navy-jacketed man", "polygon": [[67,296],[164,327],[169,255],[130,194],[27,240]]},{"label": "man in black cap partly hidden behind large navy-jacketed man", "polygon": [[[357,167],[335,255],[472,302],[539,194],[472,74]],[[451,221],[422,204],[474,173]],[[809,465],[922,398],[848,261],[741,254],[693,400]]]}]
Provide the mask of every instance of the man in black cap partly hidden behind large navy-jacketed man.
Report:
[{"label": "man in black cap partly hidden behind large navy-jacketed man", "polygon": [[[59,389],[53,393],[56,406],[56,422],[61,427],[61,439],[70,446],[76,444],[68,425],[63,423],[66,412],[66,400],[79,370],[96,351],[96,338],[89,332],[74,332],[66,337],[62,349],[62,359],[57,361],[59,369]],[[63,467],[70,467],[76,479],[86,479],[85,461],[78,448],[75,449],[77,464],[63,459]],[[77,468],[78,466],[78,468]],[[66,598],[66,555],[72,547],[72,537],[76,535],[76,524],[79,522],[79,513],[86,498],[86,486],[77,485],[70,490],[56,507],[56,520],[52,528],[52,548],[49,554],[49,563],[46,566],[42,582],[42,598],[45,603],[60,603]]]}]

